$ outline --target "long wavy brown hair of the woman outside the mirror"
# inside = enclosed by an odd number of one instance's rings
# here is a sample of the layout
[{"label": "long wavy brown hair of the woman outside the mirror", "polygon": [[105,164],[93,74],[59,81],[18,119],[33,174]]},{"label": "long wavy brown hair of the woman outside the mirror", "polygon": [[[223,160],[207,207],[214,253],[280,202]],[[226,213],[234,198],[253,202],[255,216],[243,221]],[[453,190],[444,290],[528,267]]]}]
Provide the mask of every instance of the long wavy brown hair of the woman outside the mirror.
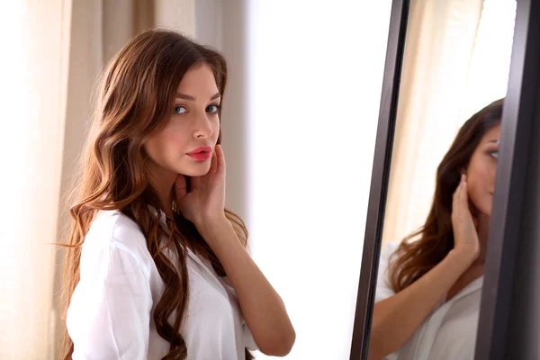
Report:
[{"label": "long wavy brown hair of the woman outside the mirror", "polygon": [[[63,245],[67,247],[63,283],[65,320],[79,281],[81,246],[98,211],[121,211],[139,225],[165,284],[163,296],[152,314],[157,333],[170,343],[169,353],[163,359],[184,359],[189,352],[180,334],[189,298],[184,243],[188,241],[199,256],[209,259],[218,275],[226,275],[220,260],[193,223],[175,212],[174,219],[166,219],[165,228],[157,211],[148,208],[150,205],[164,209],[164,205],[150,183],[143,144],[165,128],[180,81],[190,67],[200,63],[211,67],[220,94],[224,94],[225,58],[175,31],[144,31],[112,58],[102,75],[93,126],[80,158],[81,180],[74,190],[76,200],[70,207],[72,227],[68,242]],[[220,139],[221,136],[218,143]],[[225,210],[225,214],[246,246],[244,222],[232,211]],[[178,254],[179,273],[165,255],[164,238],[166,247],[175,248]],[[175,319],[169,323],[175,311]],[[65,329],[62,357],[70,359],[73,350]],[[246,356],[253,358],[247,349]]]}]

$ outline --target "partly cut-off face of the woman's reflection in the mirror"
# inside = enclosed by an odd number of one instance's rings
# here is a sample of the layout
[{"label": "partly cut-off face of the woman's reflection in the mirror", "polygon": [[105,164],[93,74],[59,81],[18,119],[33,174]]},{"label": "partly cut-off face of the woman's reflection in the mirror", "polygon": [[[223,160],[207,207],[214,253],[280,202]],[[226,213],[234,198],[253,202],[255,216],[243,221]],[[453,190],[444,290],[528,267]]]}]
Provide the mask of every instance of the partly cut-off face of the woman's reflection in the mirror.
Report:
[{"label": "partly cut-off face of the woman's reflection in the mirror", "polygon": [[500,125],[486,132],[466,169],[469,199],[482,214],[491,216],[499,157]]}]

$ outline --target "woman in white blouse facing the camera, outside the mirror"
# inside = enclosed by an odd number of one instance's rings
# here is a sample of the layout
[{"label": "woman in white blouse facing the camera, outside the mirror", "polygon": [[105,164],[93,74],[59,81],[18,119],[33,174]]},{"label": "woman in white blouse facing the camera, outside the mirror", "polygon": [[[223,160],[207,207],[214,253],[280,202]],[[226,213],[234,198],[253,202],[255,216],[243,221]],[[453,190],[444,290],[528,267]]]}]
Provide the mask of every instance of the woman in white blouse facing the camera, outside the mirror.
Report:
[{"label": "woman in white blouse facing the camera, outside the mirror", "polygon": [[65,359],[284,356],[280,296],[224,208],[225,59],[173,31],[139,34],[106,68],[65,267]]}]

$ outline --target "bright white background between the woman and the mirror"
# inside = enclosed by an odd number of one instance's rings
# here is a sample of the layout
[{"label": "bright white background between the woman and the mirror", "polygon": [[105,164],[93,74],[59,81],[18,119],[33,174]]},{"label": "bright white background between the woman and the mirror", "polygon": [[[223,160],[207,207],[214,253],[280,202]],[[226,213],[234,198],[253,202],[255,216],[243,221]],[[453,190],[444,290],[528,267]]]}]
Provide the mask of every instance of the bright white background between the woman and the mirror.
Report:
[{"label": "bright white background between the woman and the mirror", "polygon": [[197,36],[229,60],[228,206],[293,320],[287,359],[349,357],[391,3],[195,8]]}]

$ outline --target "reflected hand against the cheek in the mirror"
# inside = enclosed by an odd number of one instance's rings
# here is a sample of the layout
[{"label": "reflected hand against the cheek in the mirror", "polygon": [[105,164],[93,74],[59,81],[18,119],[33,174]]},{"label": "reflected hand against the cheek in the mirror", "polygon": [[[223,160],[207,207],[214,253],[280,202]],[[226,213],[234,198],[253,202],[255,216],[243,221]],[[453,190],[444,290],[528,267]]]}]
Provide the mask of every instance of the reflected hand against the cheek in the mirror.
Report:
[{"label": "reflected hand against the cheek in the mirror", "polygon": [[469,209],[468,184],[462,175],[455,189],[452,201],[452,227],[454,229],[454,249],[473,262],[480,254],[480,241],[475,220]]}]

